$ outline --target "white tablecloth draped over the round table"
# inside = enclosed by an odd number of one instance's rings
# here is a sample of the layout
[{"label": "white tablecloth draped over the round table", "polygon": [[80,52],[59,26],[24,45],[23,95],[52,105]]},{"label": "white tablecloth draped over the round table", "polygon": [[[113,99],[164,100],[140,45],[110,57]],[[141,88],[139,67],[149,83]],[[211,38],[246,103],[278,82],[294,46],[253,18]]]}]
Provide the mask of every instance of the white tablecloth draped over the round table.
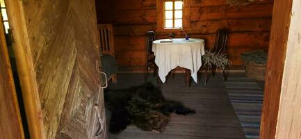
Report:
[{"label": "white tablecloth draped over the round table", "polygon": [[172,42],[155,40],[152,51],[156,56],[155,63],[161,81],[165,83],[168,72],[179,66],[190,70],[191,77],[197,83],[197,71],[202,66],[202,56],[205,54],[204,45],[204,40],[195,38],[173,39]]}]

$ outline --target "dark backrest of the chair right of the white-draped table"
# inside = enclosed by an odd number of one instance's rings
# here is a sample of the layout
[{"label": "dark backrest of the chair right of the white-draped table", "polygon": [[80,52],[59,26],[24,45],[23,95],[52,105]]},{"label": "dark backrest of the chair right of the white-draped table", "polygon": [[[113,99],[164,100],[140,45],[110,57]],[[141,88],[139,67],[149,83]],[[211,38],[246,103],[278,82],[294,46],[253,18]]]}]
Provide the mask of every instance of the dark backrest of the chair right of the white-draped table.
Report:
[{"label": "dark backrest of the chair right of the white-draped table", "polygon": [[225,52],[227,45],[228,31],[225,29],[218,29],[215,33],[215,40],[211,51]]}]

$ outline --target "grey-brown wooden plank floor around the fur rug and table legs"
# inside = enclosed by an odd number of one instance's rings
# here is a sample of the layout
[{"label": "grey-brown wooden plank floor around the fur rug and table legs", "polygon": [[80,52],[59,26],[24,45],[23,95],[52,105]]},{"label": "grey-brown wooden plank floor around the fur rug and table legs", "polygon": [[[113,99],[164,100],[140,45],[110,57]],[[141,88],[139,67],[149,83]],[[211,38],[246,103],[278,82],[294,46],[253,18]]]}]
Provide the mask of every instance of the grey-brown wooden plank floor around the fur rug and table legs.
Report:
[{"label": "grey-brown wooden plank floor around the fur rug and table legs", "polygon": [[[169,78],[166,85],[161,86],[166,99],[181,101],[188,108],[195,109],[195,115],[172,115],[171,122],[164,133],[147,132],[137,129],[136,126],[129,126],[117,136],[109,134],[108,138],[245,138],[238,117],[230,104],[222,75],[211,77],[206,86],[204,86],[204,79],[199,80],[200,83],[192,83],[190,88],[186,88],[184,74],[176,74],[174,79]],[[149,81],[156,83],[154,78],[150,78]],[[109,88],[128,88],[143,82],[143,74],[118,74],[117,83],[110,83]]]}]

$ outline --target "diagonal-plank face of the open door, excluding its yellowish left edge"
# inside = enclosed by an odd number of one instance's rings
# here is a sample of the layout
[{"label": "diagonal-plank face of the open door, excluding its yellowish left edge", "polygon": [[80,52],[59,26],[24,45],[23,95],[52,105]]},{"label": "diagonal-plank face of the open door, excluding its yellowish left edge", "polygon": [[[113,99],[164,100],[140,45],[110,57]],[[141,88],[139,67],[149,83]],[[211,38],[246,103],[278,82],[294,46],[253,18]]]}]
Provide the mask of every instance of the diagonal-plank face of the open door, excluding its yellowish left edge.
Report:
[{"label": "diagonal-plank face of the open door, excluding its yellowish left edge", "polygon": [[44,138],[90,138],[94,104],[104,113],[95,1],[26,0],[22,10],[42,108],[38,130]]}]

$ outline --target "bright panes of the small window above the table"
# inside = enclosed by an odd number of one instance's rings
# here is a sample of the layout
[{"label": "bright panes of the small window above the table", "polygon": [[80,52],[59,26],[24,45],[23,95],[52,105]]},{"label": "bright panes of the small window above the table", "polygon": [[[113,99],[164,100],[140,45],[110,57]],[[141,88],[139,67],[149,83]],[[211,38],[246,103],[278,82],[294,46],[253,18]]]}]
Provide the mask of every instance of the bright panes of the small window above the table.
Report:
[{"label": "bright panes of the small window above the table", "polygon": [[183,1],[164,2],[164,28],[183,27]]}]

